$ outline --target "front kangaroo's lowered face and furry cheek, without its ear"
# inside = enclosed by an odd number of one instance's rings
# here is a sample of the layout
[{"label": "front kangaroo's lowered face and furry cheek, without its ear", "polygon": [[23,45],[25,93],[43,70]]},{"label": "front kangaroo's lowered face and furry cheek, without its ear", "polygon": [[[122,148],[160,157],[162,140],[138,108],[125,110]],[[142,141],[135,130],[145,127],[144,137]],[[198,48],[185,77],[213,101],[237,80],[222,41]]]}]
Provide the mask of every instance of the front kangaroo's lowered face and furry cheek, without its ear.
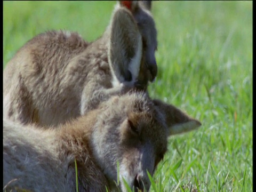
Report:
[{"label": "front kangaroo's lowered face and furry cheek, without its ear", "polygon": [[122,191],[126,191],[125,182],[134,191],[148,191],[147,172],[154,174],[166,152],[167,127],[153,109],[129,111],[124,108],[123,111],[125,115],[120,113],[104,119],[103,124],[107,126],[97,133],[96,156],[108,180],[119,179],[118,187]]}]

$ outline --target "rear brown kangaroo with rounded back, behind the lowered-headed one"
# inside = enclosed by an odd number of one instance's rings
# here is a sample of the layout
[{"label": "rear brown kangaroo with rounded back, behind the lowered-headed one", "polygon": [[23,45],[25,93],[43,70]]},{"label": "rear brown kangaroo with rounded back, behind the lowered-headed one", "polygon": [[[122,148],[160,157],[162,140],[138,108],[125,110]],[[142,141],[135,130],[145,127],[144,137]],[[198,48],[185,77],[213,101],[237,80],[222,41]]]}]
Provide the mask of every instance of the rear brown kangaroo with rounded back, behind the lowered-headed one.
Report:
[{"label": "rear brown kangaroo with rounded back, behind the lowered-headed one", "polygon": [[[129,10],[117,4],[107,30],[94,42],[73,32],[48,31],[21,47],[3,73],[4,117],[23,124],[58,125],[135,83],[145,89],[154,75],[147,59],[141,62],[146,55],[142,37],[151,35],[156,41],[156,33],[143,35],[145,28],[155,31],[155,25],[147,10],[134,6]],[[143,31],[136,21],[140,14],[146,24]],[[139,71],[142,67],[145,71]]]}]

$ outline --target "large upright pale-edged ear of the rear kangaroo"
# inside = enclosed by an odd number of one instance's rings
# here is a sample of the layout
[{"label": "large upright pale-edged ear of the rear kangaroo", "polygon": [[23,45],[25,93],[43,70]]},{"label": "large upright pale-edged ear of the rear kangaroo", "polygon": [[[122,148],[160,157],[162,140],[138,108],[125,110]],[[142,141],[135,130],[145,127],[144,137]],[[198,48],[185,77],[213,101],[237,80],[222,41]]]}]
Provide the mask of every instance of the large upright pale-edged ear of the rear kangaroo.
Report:
[{"label": "large upright pale-edged ear of the rear kangaroo", "polygon": [[135,82],[142,58],[142,37],[129,10],[117,7],[110,24],[108,59],[114,81]]}]

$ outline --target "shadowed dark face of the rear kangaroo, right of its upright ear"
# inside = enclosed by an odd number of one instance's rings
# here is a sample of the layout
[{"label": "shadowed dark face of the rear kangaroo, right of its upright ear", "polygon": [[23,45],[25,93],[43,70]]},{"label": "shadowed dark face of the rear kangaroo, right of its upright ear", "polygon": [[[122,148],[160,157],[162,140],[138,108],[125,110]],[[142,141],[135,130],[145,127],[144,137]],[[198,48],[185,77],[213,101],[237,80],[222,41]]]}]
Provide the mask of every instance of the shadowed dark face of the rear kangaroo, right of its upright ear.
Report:
[{"label": "shadowed dark face of the rear kangaroo, right of its upright ear", "polygon": [[157,50],[157,31],[151,10],[151,1],[119,1],[120,5],[131,11],[142,36],[145,65],[150,73],[150,81],[157,75],[155,51]]}]

